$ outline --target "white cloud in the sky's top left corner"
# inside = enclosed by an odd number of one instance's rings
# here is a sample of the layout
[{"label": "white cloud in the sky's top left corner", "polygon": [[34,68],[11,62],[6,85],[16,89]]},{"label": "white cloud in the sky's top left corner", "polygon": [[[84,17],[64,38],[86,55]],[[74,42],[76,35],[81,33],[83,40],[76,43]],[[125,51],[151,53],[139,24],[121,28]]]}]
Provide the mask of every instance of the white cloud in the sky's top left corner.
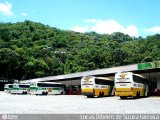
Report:
[{"label": "white cloud in the sky's top left corner", "polygon": [[12,4],[9,2],[0,3],[0,12],[7,16],[13,16],[13,12],[11,11]]}]

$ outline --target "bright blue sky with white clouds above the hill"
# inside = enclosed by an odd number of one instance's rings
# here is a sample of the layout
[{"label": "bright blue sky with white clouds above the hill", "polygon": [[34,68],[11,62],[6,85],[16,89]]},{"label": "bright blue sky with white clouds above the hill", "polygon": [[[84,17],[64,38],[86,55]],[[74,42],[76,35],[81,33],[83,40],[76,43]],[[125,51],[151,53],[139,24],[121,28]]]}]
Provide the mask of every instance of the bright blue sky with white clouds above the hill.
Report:
[{"label": "bright blue sky with white clouds above the hill", "polygon": [[0,22],[146,37],[160,33],[159,6],[160,0],[0,0]]}]

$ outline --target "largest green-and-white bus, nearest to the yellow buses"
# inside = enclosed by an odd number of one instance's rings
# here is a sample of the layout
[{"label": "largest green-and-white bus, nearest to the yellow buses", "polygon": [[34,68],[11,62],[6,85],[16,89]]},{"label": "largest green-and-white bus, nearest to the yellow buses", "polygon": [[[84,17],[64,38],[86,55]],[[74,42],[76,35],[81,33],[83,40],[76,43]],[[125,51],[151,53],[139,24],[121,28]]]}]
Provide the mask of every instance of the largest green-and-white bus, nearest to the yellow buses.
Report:
[{"label": "largest green-and-white bus, nearest to the yellow buses", "polygon": [[30,83],[30,94],[35,95],[60,95],[65,94],[66,86],[57,82]]}]

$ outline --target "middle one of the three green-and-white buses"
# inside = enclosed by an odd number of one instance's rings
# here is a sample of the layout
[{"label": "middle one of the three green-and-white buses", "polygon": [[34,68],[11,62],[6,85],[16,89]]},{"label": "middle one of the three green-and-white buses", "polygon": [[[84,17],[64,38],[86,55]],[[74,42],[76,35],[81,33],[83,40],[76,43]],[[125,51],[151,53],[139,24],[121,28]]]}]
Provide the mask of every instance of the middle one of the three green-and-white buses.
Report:
[{"label": "middle one of the three green-and-white buses", "polygon": [[30,89],[30,84],[18,84],[14,83],[11,94],[28,94]]}]

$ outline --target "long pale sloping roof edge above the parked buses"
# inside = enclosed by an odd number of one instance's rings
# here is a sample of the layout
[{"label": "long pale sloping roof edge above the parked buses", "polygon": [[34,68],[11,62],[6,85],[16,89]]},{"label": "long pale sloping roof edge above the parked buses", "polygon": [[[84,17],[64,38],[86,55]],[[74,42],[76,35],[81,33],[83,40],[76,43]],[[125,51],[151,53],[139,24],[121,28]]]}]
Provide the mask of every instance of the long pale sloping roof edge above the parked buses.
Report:
[{"label": "long pale sloping roof edge above the parked buses", "polygon": [[76,79],[81,78],[83,76],[88,75],[107,75],[107,74],[114,74],[117,72],[123,72],[123,71],[136,71],[138,70],[137,64],[133,65],[127,65],[127,66],[119,66],[119,67],[113,67],[113,68],[105,68],[105,69],[97,69],[97,70],[90,70],[85,72],[77,72],[77,73],[71,73],[71,74],[65,74],[65,75],[57,75],[57,76],[49,76],[49,77],[42,77],[42,78],[35,78],[30,80],[24,80],[20,81],[21,83],[30,83],[30,82],[40,82],[40,81],[57,81],[57,80],[69,80],[69,79]]}]

